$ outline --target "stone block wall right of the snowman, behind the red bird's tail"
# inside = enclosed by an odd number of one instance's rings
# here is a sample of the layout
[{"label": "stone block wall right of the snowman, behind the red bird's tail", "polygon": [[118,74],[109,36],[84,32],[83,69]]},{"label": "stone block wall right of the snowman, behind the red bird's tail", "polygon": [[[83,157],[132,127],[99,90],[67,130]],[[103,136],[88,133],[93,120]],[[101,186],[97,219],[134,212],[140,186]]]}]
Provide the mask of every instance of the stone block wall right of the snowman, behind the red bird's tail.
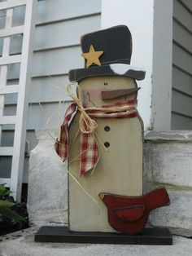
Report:
[{"label": "stone block wall right of the snowman, behind the red bird's tail", "polygon": [[151,212],[151,225],[192,236],[192,131],[146,133],[143,179],[145,191],[165,186],[171,201]]}]

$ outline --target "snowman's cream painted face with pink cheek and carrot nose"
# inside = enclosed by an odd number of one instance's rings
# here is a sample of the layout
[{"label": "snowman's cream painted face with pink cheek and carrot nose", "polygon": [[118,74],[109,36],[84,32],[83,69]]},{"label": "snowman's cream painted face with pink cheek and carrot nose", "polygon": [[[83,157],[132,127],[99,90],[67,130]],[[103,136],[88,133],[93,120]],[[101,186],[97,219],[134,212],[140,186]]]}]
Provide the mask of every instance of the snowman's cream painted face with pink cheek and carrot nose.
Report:
[{"label": "snowman's cream painted face with pink cheek and carrot nose", "polygon": [[102,107],[137,98],[137,92],[132,95],[129,93],[130,89],[137,88],[137,83],[129,77],[88,77],[81,80],[79,86],[86,108]]}]

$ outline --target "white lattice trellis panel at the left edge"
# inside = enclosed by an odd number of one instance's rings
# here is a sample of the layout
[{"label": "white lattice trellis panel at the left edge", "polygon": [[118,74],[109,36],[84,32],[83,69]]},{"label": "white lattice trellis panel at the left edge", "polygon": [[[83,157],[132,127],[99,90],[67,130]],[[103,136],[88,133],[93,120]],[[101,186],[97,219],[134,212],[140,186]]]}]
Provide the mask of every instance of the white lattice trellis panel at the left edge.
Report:
[{"label": "white lattice trellis panel at the left edge", "polygon": [[[0,2],[0,11],[6,11],[5,28],[0,30],[3,38],[2,57],[0,57],[0,140],[3,125],[15,125],[13,147],[0,147],[0,156],[12,156],[10,179],[0,179],[7,183],[13,196],[20,201],[23,168],[24,147],[26,139],[26,117],[28,110],[28,84],[30,83],[31,60],[33,54],[32,38],[34,27],[34,7],[37,0],[7,0]],[[24,25],[12,26],[14,7],[25,5]],[[23,49],[20,55],[10,55],[11,36],[23,34]],[[9,64],[20,63],[19,84],[7,86],[7,69]],[[4,116],[5,95],[16,93],[17,111],[15,116]]]}]

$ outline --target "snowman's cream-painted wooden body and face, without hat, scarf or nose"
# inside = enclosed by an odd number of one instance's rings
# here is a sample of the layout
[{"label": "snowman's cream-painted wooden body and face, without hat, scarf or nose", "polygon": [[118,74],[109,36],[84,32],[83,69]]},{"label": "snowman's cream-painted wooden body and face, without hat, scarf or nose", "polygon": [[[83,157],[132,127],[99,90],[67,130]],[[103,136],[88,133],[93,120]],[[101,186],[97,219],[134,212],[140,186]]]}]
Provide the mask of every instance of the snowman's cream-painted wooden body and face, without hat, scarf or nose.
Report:
[{"label": "snowman's cream-painted wooden body and face, without hat, scarf or nose", "polygon": [[[107,86],[103,86],[103,84]],[[92,90],[115,90],[131,89],[136,87],[136,83],[129,77],[90,77],[80,82],[81,96],[83,91]],[[97,95],[97,93],[94,95]],[[87,107],[93,104],[103,106],[114,104],[124,99],[133,99],[136,95],[120,97],[118,99],[103,100],[101,96],[94,96],[87,101],[83,98]],[[80,138],[77,137],[79,130],[80,114],[74,117],[69,130],[69,172],[68,177],[68,214],[69,230],[79,232],[115,232],[107,221],[107,209],[98,198],[99,192],[111,192],[120,195],[139,196],[142,195],[142,120],[140,117],[133,118],[110,118],[96,119],[98,123],[97,135],[103,143],[110,143],[107,151],[102,143],[98,142],[100,159],[94,170],[91,179],[91,171],[80,177],[79,156]],[[109,127],[109,130],[106,129]],[[95,201],[88,196],[89,193]]]}]

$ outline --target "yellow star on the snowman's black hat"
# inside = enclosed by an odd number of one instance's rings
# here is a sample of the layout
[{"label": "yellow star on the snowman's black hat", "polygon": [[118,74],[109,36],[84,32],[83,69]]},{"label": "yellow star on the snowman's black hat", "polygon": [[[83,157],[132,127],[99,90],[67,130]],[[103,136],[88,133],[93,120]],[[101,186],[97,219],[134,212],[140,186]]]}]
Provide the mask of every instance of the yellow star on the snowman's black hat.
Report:
[{"label": "yellow star on the snowman's black hat", "polygon": [[87,60],[86,68],[89,68],[91,64],[96,64],[98,66],[101,66],[100,61],[98,58],[103,55],[103,51],[94,51],[94,46],[90,45],[89,52],[81,54],[83,58]]}]

